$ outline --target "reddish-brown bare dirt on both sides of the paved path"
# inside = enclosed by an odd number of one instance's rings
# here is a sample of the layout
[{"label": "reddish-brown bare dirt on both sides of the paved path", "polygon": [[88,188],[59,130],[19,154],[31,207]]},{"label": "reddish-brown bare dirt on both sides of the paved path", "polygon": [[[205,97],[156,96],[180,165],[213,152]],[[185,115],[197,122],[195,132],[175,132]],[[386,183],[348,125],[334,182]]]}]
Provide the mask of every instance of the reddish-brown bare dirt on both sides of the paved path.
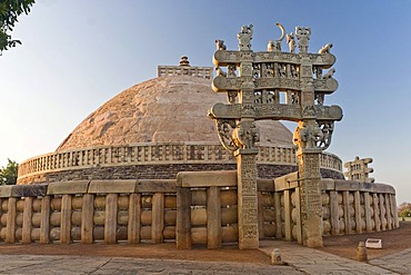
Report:
[{"label": "reddish-brown bare dirt on both sides of the paved path", "polygon": [[[394,230],[381,233],[367,233],[361,235],[345,235],[324,237],[322,251],[347,258],[355,258],[359,242],[367,238],[381,238],[382,249],[368,249],[369,259],[387,254],[411,248],[411,222],[401,222],[401,227]],[[117,245],[40,245],[40,244],[12,244],[0,245],[0,254],[11,255],[84,255],[104,257],[134,257],[134,258],[160,258],[183,259],[202,262],[239,262],[269,264],[269,257],[260,251],[239,251],[235,245],[225,246],[222,249],[193,248],[191,251],[177,251],[174,243],[159,245],[151,244],[117,244]]]}]

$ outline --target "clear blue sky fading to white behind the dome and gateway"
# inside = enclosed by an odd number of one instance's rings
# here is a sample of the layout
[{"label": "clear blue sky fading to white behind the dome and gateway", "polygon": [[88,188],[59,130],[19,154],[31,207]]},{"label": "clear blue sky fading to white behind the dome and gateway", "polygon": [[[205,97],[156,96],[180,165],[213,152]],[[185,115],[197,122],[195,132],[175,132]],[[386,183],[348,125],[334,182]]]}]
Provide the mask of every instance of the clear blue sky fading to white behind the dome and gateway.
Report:
[{"label": "clear blue sky fading to white behind the dome and gateway", "polygon": [[[252,23],[254,51],[311,27],[310,51],[332,42],[340,88],[328,149],[343,161],[372,157],[373,177],[411,202],[411,1],[80,1],[38,0],[12,37],[23,45],[0,57],[0,166],[53,151],[123,89],[157,76],[158,65],[212,66],[214,40],[237,49]],[[285,42],[283,43],[285,49]]]}]

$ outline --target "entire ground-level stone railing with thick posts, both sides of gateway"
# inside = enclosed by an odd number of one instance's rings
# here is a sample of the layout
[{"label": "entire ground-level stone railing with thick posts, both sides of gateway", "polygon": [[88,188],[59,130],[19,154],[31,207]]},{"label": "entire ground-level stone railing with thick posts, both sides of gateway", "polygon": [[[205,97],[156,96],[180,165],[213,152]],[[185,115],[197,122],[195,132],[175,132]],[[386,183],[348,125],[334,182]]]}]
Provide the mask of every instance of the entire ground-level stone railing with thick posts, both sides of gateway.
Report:
[{"label": "entire ground-level stone railing with thick posts, both sides of gateway", "polygon": [[[260,238],[301,243],[298,173],[258,179]],[[237,171],[183,171],[176,179],[78,180],[0,187],[0,243],[238,242]],[[322,179],[323,235],[399,227],[395,190]]]}]

